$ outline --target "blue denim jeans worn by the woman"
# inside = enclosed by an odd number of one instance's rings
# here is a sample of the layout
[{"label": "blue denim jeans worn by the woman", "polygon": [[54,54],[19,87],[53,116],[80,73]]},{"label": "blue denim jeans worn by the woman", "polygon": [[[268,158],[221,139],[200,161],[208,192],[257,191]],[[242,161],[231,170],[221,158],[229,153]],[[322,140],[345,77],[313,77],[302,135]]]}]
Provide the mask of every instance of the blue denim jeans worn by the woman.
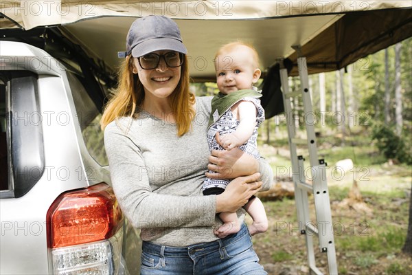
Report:
[{"label": "blue denim jeans worn by the woman", "polygon": [[259,264],[246,225],[225,239],[174,248],[144,241],[141,275],[267,274]]}]

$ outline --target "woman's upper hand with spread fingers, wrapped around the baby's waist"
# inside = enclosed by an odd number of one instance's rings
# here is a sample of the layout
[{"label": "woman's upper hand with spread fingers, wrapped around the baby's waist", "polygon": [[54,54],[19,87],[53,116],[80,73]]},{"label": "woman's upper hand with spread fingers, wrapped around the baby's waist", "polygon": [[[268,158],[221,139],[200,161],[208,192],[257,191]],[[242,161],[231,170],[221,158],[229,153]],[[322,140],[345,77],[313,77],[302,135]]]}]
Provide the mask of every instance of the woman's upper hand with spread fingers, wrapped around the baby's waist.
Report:
[{"label": "woman's upper hand with spread fingers, wrapped around the baby's waist", "polygon": [[[216,133],[216,141],[221,145],[219,133]],[[207,168],[215,172],[206,173],[206,177],[210,179],[234,179],[258,172],[259,162],[236,147],[230,151],[211,151]]]}]

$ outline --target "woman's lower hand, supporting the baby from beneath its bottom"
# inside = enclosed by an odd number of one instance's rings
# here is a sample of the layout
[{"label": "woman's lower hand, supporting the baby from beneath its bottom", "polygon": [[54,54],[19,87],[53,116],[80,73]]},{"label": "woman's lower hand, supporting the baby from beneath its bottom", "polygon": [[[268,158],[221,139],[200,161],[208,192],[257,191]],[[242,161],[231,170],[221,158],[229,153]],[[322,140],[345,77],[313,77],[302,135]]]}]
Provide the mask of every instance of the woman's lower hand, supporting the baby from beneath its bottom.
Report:
[{"label": "woman's lower hand, supporting the baby from beneath its bottom", "polygon": [[262,181],[258,181],[260,173],[247,177],[237,177],[226,187],[225,192],[216,196],[216,213],[236,212],[244,206],[252,195],[255,195]]}]

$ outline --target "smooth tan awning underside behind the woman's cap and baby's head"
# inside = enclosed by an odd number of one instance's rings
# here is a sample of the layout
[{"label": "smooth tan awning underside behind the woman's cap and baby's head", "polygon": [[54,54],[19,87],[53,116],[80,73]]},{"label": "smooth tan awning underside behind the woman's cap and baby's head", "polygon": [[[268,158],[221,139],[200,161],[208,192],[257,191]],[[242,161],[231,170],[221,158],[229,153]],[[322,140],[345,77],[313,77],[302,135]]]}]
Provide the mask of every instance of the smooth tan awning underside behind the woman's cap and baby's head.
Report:
[{"label": "smooth tan awning underside behind the woman's cap and baby's head", "polygon": [[[175,19],[181,29],[188,51],[190,74],[201,81],[214,80],[214,56],[220,45],[238,39],[255,45],[262,68],[270,67],[276,59],[293,53],[290,45],[306,43],[307,37],[339,20],[342,15],[315,17],[286,17],[266,20],[186,20]],[[128,28],[133,17],[101,17],[65,25],[65,32],[82,41],[95,56],[110,65],[119,63],[117,52],[125,50]],[[301,28],[305,25],[306,28]],[[101,26],[104,26],[102,28]],[[119,30],[119,26],[123,26]],[[105,45],[105,47],[102,47]]]}]

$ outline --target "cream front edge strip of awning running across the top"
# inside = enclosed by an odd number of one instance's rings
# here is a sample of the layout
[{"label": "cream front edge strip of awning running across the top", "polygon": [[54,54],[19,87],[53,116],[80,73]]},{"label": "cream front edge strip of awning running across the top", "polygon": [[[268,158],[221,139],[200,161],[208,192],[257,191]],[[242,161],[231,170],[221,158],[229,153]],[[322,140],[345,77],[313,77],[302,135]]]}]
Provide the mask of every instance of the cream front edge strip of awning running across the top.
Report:
[{"label": "cream front edge strip of awning running across the top", "polygon": [[[65,25],[95,17],[143,17],[235,20],[407,8],[411,1],[1,1],[0,12],[25,30]],[[9,25],[0,21],[1,27]],[[5,25],[3,25],[5,24]]]}]

